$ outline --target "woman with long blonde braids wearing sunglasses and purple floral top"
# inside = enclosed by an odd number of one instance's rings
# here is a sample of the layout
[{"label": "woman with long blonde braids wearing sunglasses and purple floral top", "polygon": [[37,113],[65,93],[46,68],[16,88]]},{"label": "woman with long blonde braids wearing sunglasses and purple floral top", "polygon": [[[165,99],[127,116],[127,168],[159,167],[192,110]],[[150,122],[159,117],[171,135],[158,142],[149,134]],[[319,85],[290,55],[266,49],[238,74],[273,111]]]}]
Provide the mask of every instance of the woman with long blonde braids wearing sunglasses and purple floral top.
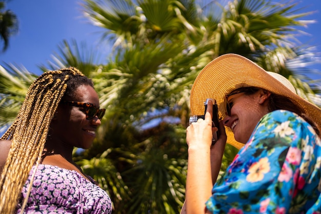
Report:
[{"label": "woman with long blonde braids wearing sunglasses and purple floral top", "polygon": [[104,113],[77,69],[39,76],[0,139],[0,213],[111,213],[107,192],[72,160],[74,147],[92,145]]}]

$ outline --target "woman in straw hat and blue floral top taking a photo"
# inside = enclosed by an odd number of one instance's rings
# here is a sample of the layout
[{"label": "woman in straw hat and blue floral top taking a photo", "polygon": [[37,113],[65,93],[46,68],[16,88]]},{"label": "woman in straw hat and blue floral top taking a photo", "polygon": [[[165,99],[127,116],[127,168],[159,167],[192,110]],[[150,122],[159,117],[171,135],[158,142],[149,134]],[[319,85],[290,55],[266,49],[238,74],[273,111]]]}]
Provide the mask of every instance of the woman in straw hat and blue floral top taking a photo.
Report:
[{"label": "woman in straw hat and blue floral top taking a photo", "polygon": [[[209,63],[191,90],[191,111],[212,102],[187,128],[188,173],[182,213],[321,213],[321,109],[283,76],[236,54]],[[226,127],[226,130],[225,128]],[[240,148],[216,182],[225,144]],[[213,184],[215,183],[214,187]]]}]

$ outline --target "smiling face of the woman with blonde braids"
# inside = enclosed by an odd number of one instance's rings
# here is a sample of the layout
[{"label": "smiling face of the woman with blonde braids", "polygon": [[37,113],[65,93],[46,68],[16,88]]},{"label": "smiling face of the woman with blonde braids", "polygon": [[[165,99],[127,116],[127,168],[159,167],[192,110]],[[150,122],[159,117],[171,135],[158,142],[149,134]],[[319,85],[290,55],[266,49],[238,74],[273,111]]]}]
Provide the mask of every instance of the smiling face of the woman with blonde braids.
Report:
[{"label": "smiling face of the woman with blonde braids", "polygon": [[[74,91],[68,101],[91,103],[99,107],[96,91],[89,85],[81,85]],[[95,138],[95,131],[101,125],[101,120],[95,116],[87,120],[83,108],[61,103],[52,120],[52,137],[65,146],[88,149]]]}]

